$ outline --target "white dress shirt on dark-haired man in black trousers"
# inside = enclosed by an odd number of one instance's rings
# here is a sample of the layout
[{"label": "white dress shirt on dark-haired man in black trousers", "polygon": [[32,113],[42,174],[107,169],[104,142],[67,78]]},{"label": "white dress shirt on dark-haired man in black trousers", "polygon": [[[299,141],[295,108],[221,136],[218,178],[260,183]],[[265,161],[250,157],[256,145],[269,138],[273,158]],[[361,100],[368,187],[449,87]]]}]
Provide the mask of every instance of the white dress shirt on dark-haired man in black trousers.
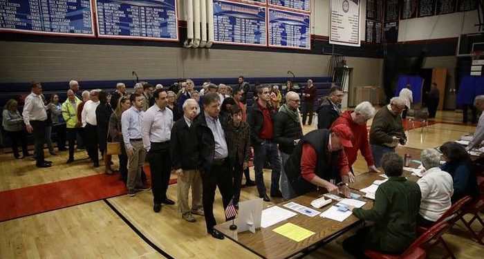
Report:
[{"label": "white dress shirt on dark-haired man in black trousers", "polygon": [[141,126],[141,137],[146,151],[151,148],[151,142],[167,142],[171,137],[173,112],[169,108],[163,110],[157,104],[151,106],[145,113]]}]

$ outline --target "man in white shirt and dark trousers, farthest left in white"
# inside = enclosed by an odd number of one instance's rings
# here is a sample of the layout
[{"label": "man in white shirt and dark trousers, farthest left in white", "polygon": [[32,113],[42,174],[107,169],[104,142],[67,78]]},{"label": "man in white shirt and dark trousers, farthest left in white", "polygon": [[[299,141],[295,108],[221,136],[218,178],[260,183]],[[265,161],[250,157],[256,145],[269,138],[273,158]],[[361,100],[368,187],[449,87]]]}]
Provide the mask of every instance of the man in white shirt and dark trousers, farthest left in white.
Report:
[{"label": "man in white shirt and dark trousers, farthest left in white", "polygon": [[50,109],[53,104],[45,105],[42,101],[42,86],[39,82],[33,82],[30,84],[32,93],[25,99],[24,111],[22,116],[24,117],[24,123],[26,124],[26,130],[28,133],[33,133],[35,143],[35,165],[37,167],[50,167],[52,162],[44,160],[44,138],[47,127],[47,110]]}]

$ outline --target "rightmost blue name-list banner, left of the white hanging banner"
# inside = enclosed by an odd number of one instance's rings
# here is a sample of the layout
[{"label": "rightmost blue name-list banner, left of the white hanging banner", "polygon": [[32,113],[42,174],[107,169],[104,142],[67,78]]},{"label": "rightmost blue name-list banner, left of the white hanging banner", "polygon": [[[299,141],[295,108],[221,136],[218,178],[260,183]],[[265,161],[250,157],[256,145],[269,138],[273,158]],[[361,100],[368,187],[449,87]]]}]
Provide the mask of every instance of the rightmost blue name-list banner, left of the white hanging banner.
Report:
[{"label": "rightmost blue name-list banner, left of the white hanging banner", "polygon": [[269,8],[269,46],[310,50],[310,15]]}]

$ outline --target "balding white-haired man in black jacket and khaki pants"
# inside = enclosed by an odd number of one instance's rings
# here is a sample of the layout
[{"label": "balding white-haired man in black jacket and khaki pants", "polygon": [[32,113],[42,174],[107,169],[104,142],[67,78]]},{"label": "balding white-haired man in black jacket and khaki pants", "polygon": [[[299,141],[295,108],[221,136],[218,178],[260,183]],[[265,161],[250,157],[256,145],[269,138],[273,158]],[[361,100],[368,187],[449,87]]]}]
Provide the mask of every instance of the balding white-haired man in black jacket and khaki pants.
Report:
[{"label": "balding white-haired man in black jacket and khaki pants", "polygon": [[[198,160],[198,140],[193,119],[196,117],[198,104],[194,99],[183,103],[183,117],[171,128],[170,153],[173,169],[178,175],[178,208],[182,218],[195,222],[192,214],[204,215],[202,207],[202,179],[196,170]],[[188,191],[192,186],[192,210],[188,207]]]}]

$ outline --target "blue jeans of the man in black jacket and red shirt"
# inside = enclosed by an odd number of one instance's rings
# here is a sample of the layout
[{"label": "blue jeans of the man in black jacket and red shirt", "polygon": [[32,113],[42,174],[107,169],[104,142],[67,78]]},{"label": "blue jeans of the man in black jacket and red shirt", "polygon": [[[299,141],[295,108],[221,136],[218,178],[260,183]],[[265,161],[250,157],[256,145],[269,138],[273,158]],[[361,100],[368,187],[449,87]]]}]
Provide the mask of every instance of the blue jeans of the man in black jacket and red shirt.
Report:
[{"label": "blue jeans of the man in black jacket and red shirt", "polygon": [[270,193],[279,193],[281,158],[279,157],[277,144],[266,141],[260,146],[254,146],[255,183],[257,185],[257,191],[259,191],[259,197],[261,198],[266,194],[266,184],[264,184],[263,178],[263,166],[266,163],[266,160],[270,162],[270,167],[272,169]]}]

